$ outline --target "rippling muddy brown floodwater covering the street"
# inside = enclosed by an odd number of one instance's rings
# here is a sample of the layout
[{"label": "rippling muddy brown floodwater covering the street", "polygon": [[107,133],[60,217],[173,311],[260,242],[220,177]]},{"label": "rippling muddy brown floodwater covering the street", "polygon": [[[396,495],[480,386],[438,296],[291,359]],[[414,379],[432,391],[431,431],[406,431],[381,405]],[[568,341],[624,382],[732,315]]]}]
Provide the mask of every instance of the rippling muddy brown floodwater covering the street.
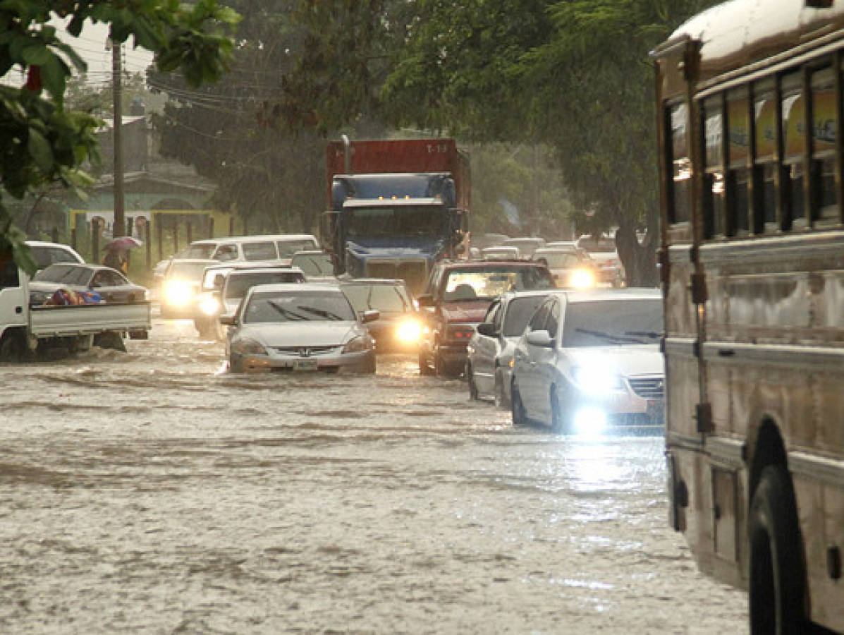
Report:
[{"label": "rippling muddy brown floodwater covering the street", "polygon": [[393,356],[238,377],[187,322],[0,366],[0,632],[746,632],[663,439],[513,429]]}]

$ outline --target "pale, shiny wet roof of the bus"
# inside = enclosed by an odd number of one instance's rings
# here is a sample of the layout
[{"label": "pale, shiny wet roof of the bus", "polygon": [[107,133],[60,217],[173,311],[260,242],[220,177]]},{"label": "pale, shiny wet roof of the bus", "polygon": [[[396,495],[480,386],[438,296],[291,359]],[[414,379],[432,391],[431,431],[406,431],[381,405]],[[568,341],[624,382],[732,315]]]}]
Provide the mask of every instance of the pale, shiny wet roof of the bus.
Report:
[{"label": "pale, shiny wet roof of the bus", "polygon": [[844,28],[844,0],[812,8],[807,0],[730,0],[695,15],[654,51],[662,57],[683,41],[701,42],[706,80]]}]

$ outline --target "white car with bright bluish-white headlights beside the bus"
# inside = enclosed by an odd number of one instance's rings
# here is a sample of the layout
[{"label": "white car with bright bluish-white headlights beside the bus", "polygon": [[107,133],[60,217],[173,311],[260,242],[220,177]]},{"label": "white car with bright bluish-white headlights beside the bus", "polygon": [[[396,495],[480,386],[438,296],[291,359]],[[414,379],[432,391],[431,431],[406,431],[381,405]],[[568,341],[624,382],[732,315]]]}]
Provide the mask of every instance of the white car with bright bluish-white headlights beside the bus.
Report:
[{"label": "white car with bright bluish-white headlights beside the bus", "polygon": [[551,293],[516,345],[513,423],[577,434],[661,426],[662,334],[658,290]]}]

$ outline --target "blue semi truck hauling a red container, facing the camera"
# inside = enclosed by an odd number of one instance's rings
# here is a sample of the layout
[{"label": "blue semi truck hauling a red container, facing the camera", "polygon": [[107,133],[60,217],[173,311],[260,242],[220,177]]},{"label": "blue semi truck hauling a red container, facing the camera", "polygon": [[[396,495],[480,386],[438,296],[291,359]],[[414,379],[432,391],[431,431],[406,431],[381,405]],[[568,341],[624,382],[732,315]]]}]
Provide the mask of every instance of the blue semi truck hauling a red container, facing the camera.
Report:
[{"label": "blue semi truck hauling a red container, facing the camera", "polygon": [[431,265],[468,254],[468,157],[453,139],[328,144],[323,247],[336,274],[425,285]]}]

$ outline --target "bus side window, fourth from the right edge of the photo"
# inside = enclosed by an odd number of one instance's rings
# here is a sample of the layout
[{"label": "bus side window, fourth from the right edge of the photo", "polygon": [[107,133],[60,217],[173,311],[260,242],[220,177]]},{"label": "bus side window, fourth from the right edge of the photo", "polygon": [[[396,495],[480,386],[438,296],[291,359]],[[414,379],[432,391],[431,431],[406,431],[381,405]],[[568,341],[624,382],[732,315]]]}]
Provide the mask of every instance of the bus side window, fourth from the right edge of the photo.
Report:
[{"label": "bus side window, fourth from the right edge of the photo", "polygon": [[730,91],[727,95],[728,172],[727,172],[727,234],[747,236],[749,214],[747,201],[747,157],[749,154],[747,89]]}]

